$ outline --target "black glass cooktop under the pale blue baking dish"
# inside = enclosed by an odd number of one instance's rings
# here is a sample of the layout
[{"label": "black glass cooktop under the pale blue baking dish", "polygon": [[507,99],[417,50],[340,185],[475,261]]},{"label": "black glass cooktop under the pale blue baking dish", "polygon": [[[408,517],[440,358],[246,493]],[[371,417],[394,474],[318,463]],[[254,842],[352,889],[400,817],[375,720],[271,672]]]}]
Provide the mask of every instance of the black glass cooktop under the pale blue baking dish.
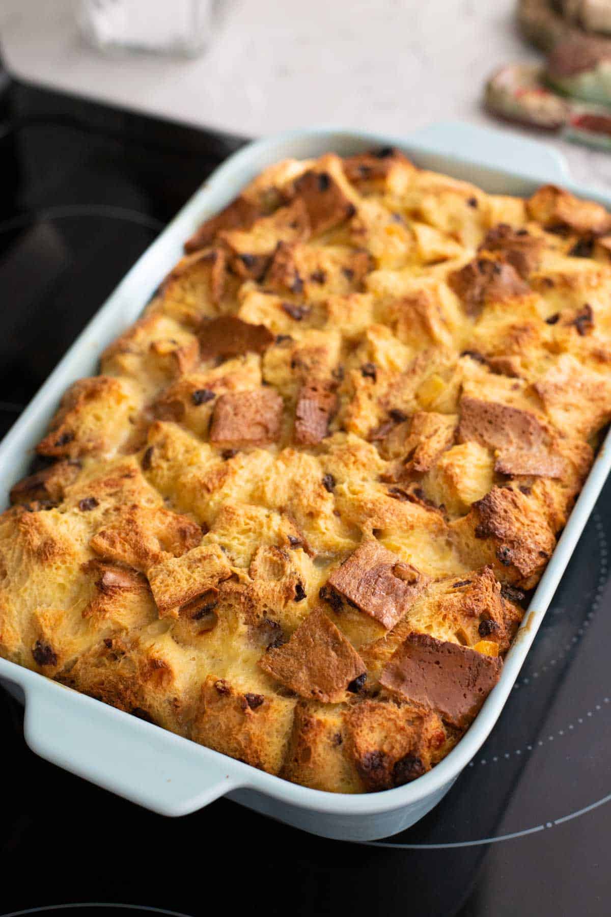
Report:
[{"label": "black glass cooktop under the pale blue baking dish", "polygon": [[[239,138],[8,84],[0,433]],[[345,844],[219,800],[169,820],[35,757],[0,689],[0,913],[563,917],[611,912],[611,484],[506,709],[446,798]]]}]

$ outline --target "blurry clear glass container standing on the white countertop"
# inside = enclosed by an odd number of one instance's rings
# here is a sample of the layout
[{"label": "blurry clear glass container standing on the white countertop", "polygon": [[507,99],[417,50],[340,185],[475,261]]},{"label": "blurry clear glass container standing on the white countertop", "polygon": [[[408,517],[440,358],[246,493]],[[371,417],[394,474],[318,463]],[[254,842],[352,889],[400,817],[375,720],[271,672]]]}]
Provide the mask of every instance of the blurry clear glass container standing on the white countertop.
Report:
[{"label": "blurry clear glass container standing on the white countertop", "polygon": [[79,26],[104,51],[195,57],[210,40],[214,0],[80,0]]}]

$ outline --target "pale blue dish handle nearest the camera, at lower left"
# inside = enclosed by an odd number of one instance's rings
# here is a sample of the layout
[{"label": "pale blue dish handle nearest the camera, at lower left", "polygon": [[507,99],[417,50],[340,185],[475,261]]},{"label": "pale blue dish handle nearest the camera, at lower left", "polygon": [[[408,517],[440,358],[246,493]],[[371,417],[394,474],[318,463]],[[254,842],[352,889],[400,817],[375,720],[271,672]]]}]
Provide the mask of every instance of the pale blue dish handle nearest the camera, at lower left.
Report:
[{"label": "pale blue dish handle nearest the camera, at lower left", "polygon": [[25,692],[32,751],[161,815],[195,812],[244,785],[228,775],[223,755],[57,682]]}]

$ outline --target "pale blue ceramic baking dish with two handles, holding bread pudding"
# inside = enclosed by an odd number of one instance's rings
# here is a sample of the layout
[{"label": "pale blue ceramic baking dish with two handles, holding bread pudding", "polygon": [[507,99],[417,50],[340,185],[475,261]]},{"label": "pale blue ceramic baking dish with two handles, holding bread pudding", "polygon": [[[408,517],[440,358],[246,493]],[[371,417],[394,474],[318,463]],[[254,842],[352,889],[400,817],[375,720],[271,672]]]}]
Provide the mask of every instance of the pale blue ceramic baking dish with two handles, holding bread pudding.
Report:
[{"label": "pale blue ceramic baking dish with two handles, holding bread pudding", "polygon": [[[32,449],[63,392],[72,381],[96,371],[101,350],[136,319],[179,260],[183,241],[202,220],[277,160],[319,156],[325,150],[346,155],[387,145],[403,149],[419,165],[475,182],[487,192],[529,194],[541,183],[555,182],[611,206],[611,197],[575,186],[554,150],[479,127],[437,125],[404,138],[322,128],[251,143],[214,172],[137,261],[5,437],[0,445],[5,494],[27,472]],[[436,768],[395,790],[358,796],[310,790],[198,746],[4,659],[0,659],[0,679],[25,701],[25,737],[38,755],[155,812],[186,814],[226,795],[313,834],[343,840],[396,834],[442,799],[494,726],[610,465],[607,436],[507,654],[501,679],[475,723]]]}]

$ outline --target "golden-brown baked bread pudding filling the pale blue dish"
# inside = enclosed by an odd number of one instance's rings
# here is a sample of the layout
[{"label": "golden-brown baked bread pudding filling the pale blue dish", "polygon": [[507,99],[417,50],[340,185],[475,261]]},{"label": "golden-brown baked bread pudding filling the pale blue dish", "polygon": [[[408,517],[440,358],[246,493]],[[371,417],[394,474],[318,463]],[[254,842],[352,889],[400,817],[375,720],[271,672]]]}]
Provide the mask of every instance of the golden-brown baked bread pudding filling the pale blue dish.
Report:
[{"label": "golden-brown baked bread pudding filling the pale blue dish", "polygon": [[611,419],[611,217],[382,149],[279,163],[185,248],[13,488],[0,653],[309,787],[416,779]]}]

